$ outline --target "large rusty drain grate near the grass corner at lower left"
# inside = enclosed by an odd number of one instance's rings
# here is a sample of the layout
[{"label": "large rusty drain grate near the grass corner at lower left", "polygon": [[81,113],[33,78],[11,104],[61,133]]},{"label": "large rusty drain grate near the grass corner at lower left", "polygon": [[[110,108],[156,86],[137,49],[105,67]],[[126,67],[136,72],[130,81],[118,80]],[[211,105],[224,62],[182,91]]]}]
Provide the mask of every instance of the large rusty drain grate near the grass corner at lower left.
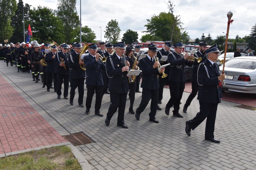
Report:
[{"label": "large rusty drain grate near the grass corner at lower left", "polygon": [[67,141],[72,143],[74,146],[77,145],[85,145],[89,143],[93,143],[93,139],[89,138],[86,134],[83,132],[73,133],[70,135],[63,136]]}]

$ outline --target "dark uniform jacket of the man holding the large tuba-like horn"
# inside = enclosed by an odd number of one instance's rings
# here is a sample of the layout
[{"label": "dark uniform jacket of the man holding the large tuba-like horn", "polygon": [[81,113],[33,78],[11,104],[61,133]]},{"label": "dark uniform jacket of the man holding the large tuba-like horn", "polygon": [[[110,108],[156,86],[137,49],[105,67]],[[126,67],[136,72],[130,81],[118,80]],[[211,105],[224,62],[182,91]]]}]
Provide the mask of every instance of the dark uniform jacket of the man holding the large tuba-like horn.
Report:
[{"label": "dark uniform jacket of the man holding the large tuba-like horn", "polygon": [[80,68],[79,54],[69,54],[70,78],[85,78],[85,71]]}]

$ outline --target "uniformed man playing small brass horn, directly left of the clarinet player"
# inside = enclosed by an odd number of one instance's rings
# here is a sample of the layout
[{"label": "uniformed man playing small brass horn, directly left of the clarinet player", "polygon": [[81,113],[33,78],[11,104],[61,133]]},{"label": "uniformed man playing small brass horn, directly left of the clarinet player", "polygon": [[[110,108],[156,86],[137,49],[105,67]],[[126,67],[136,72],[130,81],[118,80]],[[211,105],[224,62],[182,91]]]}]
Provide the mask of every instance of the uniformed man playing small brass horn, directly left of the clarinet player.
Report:
[{"label": "uniformed man playing small brass horn, directly left of the clarinet player", "polygon": [[[103,90],[103,79],[101,75],[101,70],[105,69],[105,64],[99,58],[97,54],[97,45],[89,45],[90,54],[85,56],[84,65],[86,68],[86,88],[87,88],[87,97],[86,97],[86,111],[85,114],[90,113],[90,108],[93,100],[94,92],[96,94],[95,100],[95,115],[102,117],[100,113],[101,101],[102,101],[102,90]],[[106,69],[105,69],[106,70]]]}]

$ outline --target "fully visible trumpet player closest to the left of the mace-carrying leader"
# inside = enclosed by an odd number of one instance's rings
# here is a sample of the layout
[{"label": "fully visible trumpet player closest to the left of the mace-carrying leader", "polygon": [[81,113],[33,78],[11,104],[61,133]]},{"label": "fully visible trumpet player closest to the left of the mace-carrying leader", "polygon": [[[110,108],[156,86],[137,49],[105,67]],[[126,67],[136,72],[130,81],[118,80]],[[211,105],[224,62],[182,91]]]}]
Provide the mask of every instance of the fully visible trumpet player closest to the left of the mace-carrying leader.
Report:
[{"label": "fully visible trumpet player closest to the left of the mace-carrying leader", "polygon": [[170,94],[172,95],[166,104],[165,113],[166,115],[169,115],[170,108],[174,106],[174,110],[172,111],[173,116],[183,118],[183,116],[179,113],[179,109],[186,82],[184,66],[187,65],[191,67],[193,66],[193,63],[187,60],[187,57],[189,56],[188,53],[186,53],[184,56],[181,54],[184,47],[181,41],[177,42],[173,46],[175,50],[174,53],[168,55],[168,62],[171,66],[169,73],[169,89]]}]

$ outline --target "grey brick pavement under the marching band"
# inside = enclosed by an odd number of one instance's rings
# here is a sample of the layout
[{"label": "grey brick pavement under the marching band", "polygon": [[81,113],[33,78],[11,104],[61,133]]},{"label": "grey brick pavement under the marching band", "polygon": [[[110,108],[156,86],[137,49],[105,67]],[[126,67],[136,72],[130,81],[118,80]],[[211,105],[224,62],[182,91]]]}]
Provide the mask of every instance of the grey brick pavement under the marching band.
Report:
[{"label": "grey brick pavement under the marching band", "polygon": [[[129,129],[122,129],[116,126],[117,114],[111,119],[109,127],[105,126],[110,104],[107,94],[102,100],[101,113],[104,117],[94,115],[95,98],[90,114],[85,115],[85,107],[78,106],[77,91],[74,105],[71,106],[63,96],[57,99],[52,89],[47,92],[46,88],[42,88],[41,82],[34,83],[31,74],[17,73],[15,67],[6,67],[2,60],[0,76],[60,135],[82,131],[95,141],[77,146],[91,169],[256,169],[256,111],[237,108],[237,103],[222,101],[218,105],[215,138],[220,139],[221,143],[215,144],[204,140],[205,121],[191,131],[191,136],[185,133],[185,122],[199,111],[196,98],[187,113],[180,110],[184,118],[166,116],[164,109],[157,111],[159,124],[149,121],[149,106],[141,114],[140,121],[137,121],[134,115],[128,113],[130,101],[127,99],[125,124]],[[1,85],[1,99],[5,93],[8,92]],[[184,92],[181,109],[188,95]],[[169,100],[169,89],[164,88],[163,98],[162,108]],[[134,110],[140,100],[141,93],[136,93]],[[84,104],[85,101],[86,88]],[[17,113],[18,106],[13,104],[16,106],[14,112]],[[2,116],[1,110],[0,120]]]}]

